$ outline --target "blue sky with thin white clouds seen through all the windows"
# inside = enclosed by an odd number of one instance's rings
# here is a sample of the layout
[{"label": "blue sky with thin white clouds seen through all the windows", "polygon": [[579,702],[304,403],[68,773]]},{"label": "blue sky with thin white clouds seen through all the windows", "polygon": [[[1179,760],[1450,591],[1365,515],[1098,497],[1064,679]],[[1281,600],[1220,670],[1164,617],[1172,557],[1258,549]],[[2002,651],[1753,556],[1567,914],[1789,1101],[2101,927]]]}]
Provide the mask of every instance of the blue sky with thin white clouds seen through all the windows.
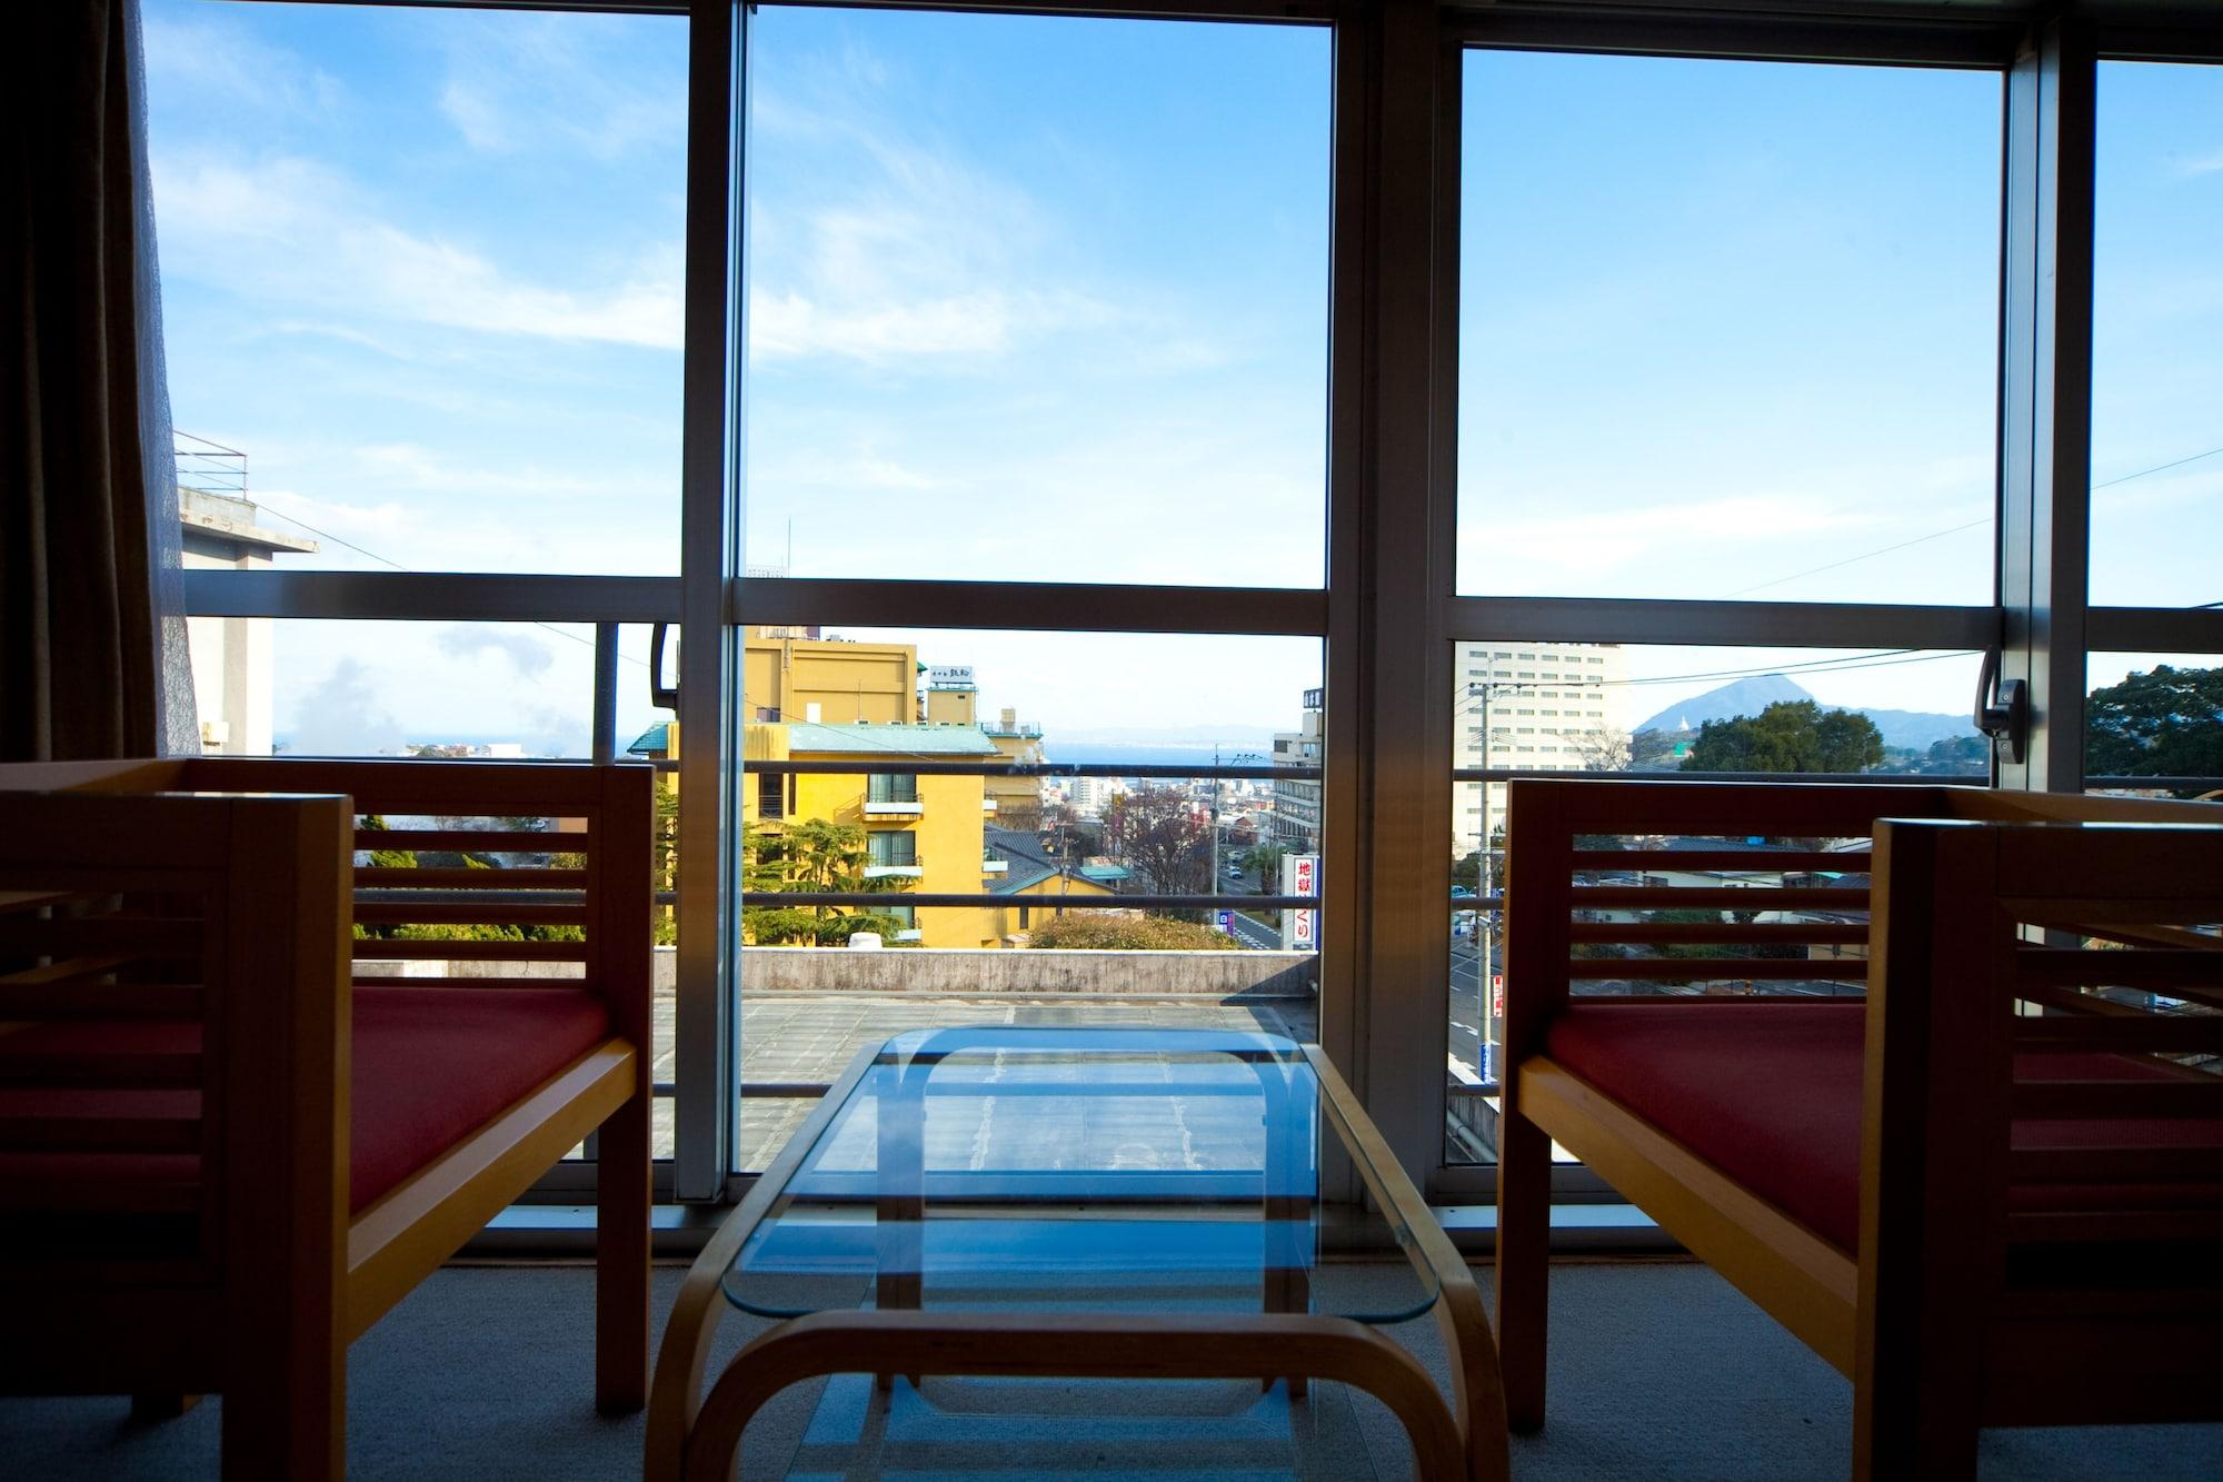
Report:
[{"label": "blue sky with thin white clouds seen through all the windows", "polygon": [[[676,572],[685,27],[144,11],[178,425],[316,565]],[[1320,581],[1325,31],[765,7],[756,47],[754,563]],[[1996,78],[1476,56],[1465,91],[1463,590],[1990,596],[1987,530],[1938,532],[1990,507]],[[2223,85],[2110,69],[2103,120],[2105,481],[2223,445]],[[2094,594],[2223,596],[2167,539],[2216,494],[2223,458],[2103,492]],[[1276,728],[1318,683],[1300,641],[947,645],[1054,732]],[[1961,668],[1810,685],[1958,710]],[[585,708],[547,630],[280,625],[280,732]]]}]

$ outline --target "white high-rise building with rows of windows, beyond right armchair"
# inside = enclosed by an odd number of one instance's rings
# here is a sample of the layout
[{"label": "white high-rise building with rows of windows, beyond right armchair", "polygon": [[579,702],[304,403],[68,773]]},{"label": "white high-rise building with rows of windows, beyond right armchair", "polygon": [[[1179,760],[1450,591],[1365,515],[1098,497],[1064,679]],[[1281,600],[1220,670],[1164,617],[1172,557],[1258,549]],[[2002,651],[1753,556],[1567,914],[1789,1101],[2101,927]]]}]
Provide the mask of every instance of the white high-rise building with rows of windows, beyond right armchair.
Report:
[{"label": "white high-rise building with rows of windows, beyond right armchair", "polygon": [[[1627,676],[1618,643],[1458,643],[1454,765],[1625,770]],[[1458,783],[1452,790],[1454,859],[1483,848],[1503,819],[1505,783]]]}]

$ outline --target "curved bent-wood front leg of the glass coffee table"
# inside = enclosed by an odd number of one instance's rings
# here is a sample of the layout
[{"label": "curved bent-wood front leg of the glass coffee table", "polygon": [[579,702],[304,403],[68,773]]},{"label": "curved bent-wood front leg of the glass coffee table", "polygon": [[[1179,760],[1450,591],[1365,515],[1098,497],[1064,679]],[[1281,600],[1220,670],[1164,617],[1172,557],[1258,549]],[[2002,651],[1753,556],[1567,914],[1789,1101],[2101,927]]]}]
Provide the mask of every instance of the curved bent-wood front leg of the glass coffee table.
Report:
[{"label": "curved bent-wood front leg of the glass coffee table", "polygon": [[1389,1406],[1412,1437],[1423,1478],[1472,1475],[1458,1424],[1420,1362],[1347,1317],[811,1313],[762,1333],[734,1357],[687,1437],[687,1482],[727,1482],[749,1420],[789,1384],[883,1366],[965,1377],[1089,1380],[1263,1380],[1298,1369],[1363,1389]]}]

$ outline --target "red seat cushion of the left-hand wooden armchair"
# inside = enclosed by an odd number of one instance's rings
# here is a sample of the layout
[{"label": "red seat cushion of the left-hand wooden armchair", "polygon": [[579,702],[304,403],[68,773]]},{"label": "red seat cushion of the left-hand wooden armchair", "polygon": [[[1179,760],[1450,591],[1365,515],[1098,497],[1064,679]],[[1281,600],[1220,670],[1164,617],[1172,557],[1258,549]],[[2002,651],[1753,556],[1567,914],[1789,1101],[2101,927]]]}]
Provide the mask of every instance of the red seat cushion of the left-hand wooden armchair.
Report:
[{"label": "red seat cushion of the left-hand wooden armchair", "polygon": [[[353,992],[349,1211],[425,1168],[500,1110],[609,1037],[609,1010],[580,988],[358,988]],[[198,1024],[40,1024],[9,1055],[193,1053]],[[191,1115],[196,1090],[0,1086],[0,1115]],[[193,1155],[0,1153],[0,1184],[191,1184]]]}]

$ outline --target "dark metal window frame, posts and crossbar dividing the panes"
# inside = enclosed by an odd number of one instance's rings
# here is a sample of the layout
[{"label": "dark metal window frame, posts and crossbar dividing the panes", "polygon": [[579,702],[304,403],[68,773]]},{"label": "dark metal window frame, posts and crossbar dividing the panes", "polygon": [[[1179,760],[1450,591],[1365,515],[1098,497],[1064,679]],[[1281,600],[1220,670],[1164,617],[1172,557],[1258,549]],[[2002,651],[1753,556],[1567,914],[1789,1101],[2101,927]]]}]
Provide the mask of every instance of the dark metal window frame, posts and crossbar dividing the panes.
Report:
[{"label": "dark metal window frame, posts and crossbar dividing the panes", "polygon": [[[2092,80],[2099,56],[2223,58],[2223,16],[2107,4],[1965,7],[1858,0],[1096,0],[938,2],[918,9],[1296,22],[1332,27],[1327,572],[1320,587],[1107,583],[765,581],[740,572],[747,31],[740,0],[476,0],[689,18],[687,363],[682,572],[185,572],[196,616],[656,623],[718,641],[682,650],[689,799],[680,821],[678,1162],[682,1199],[727,1197],[736,1084],[731,899],[738,799],[738,625],[1292,634],[1323,641],[1325,932],[1320,1039],[1400,1162],[1436,1197],[1474,1197],[1487,1170],[1443,1166],[1441,1057],[1449,861],[1427,839],[1452,810],[1449,663],[1456,641],[1987,648],[2043,696],[2034,761],[2010,786],[2083,786],[2090,652],[2223,652],[2223,612],[2087,607]],[[811,0],[825,2],[825,0]],[[905,9],[907,0],[834,0]],[[2038,16],[2054,16],[2041,20]],[[2058,16],[2065,16],[2058,18]],[[1456,592],[1458,60],[1498,49],[1716,56],[1778,62],[1998,67],[2003,149],[1998,607],[1509,599]],[[1416,579],[1418,576],[1418,579]],[[607,676],[598,679],[598,694]],[[598,734],[598,750],[611,750]],[[2074,761],[2072,761],[2074,759]],[[1416,1050],[1418,1046],[1418,1050]],[[1432,1061],[1429,1061],[1432,1064]],[[1434,1170],[1434,1175],[1429,1175]],[[1561,1177],[1585,1188],[1581,1170]]]}]

